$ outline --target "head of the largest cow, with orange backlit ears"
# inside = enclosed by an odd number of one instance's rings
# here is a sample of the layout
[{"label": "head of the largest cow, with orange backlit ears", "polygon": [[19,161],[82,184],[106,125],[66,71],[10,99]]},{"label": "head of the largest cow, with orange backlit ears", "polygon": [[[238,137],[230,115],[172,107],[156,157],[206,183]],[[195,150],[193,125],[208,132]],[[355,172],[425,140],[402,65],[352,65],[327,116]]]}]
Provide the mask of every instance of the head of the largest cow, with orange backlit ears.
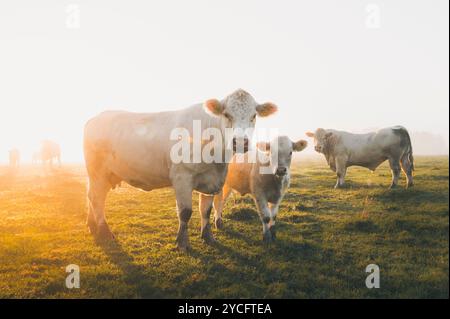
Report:
[{"label": "head of the largest cow, with orange backlit ears", "polygon": [[208,100],[204,103],[204,107],[209,114],[220,117],[222,132],[227,128],[233,129],[231,137],[233,151],[241,152],[248,150],[249,136],[246,131],[255,127],[256,116],[266,117],[277,111],[275,104],[270,102],[258,104],[249,93],[241,89],[222,101]]}]

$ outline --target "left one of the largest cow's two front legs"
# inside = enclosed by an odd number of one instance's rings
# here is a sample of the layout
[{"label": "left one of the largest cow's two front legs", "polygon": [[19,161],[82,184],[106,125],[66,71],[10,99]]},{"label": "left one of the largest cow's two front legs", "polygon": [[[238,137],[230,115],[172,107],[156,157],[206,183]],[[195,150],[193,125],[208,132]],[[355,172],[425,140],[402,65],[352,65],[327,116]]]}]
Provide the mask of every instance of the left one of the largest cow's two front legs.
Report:
[{"label": "left one of the largest cow's two front legs", "polygon": [[182,179],[174,183],[175,197],[177,200],[178,234],[176,239],[177,248],[188,251],[189,244],[188,223],[192,216],[192,186]]}]

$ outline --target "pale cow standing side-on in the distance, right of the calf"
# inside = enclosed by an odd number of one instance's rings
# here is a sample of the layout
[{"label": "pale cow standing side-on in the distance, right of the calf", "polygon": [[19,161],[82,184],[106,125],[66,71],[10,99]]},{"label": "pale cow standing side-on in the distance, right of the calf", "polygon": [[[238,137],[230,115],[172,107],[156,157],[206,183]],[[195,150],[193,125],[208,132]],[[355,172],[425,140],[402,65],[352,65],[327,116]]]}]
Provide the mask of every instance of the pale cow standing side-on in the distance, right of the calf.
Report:
[{"label": "pale cow standing side-on in the distance, right of the calf", "polygon": [[388,160],[392,170],[391,188],[397,186],[400,167],[406,174],[407,185],[413,185],[414,157],[408,131],[402,126],[393,126],[367,134],[352,134],[344,131],[319,128],[314,138],[315,149],[325,155],[330,168],[337,174],[335,188],[344,185],[349,166],[362,166],[374,171]]}]

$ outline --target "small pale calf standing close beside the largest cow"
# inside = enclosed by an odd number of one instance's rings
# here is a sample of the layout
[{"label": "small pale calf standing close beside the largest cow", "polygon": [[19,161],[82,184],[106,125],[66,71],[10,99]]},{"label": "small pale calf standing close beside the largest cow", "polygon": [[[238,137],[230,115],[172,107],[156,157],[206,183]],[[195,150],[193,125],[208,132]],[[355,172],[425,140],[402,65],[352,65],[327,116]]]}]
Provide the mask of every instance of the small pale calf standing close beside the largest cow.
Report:
[{"label": "small pale calf standing close beside the largest cow", "polygon": [[[249,151],[240,162],[236,160],[239,155],[235,155],[228,167],[223,191],[214,198],[216,227],[222,227],[223,206],[232,191],[251,194],[263,225],[263,240],[274,240],[278,208],[290,183],[292,152],[300,152],[307,145],[305,140],[292,142],[287,136],[279,136],[270,143],[259,143],[267,153],[255,150],[255,156]],[[264,167],[269,168],[269,172],[261,171]]]}]

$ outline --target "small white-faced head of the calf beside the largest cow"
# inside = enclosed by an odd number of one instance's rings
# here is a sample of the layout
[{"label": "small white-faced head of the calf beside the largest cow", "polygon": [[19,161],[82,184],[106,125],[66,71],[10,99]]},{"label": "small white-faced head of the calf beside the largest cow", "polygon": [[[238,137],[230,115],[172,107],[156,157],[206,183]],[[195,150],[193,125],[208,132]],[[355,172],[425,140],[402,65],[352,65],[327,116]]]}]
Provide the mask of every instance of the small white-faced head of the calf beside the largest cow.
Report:
[{"label": "small white-faced head of the calf beside the largest cow", "polygon": [[299,140],[292,142],[287,136],[278,136],[269,142],[259,142],[257,147],[270,154],[272,172],[278,177],[290,174],[292,152],[303,151],[308,142]]}]

